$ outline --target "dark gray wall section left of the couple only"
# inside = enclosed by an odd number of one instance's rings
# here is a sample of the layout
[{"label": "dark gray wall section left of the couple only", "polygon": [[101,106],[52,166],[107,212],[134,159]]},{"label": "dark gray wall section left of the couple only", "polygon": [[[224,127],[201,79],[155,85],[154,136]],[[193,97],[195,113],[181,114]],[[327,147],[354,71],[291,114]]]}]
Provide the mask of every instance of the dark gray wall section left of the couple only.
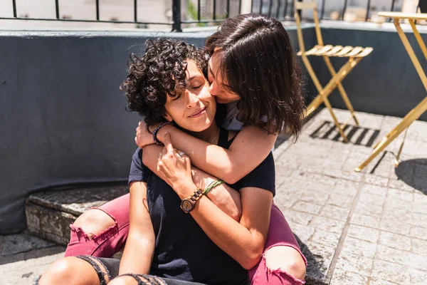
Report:
[{"label": "dark gray wall section left of the couple only", "polygon": [[[0,33],[0,234],[36,190],[126,180],[139,116],[119,90],[149,33]],[[180,36],[202,46],[206,34]]]}]

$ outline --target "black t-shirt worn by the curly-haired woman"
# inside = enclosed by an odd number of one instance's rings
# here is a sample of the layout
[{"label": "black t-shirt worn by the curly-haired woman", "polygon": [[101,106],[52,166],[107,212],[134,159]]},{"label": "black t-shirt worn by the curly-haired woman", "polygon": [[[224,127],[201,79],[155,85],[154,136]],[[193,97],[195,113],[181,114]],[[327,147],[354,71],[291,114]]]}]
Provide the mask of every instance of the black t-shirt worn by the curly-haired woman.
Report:
[{"label": "black t-shirt worn by the curly-haired woman", "polygon": [[[228,131],[221,129],[218,145],[228,148]],[[132,157],[129,182],[147,182],[147,202],[156,237],[150,274],[204,284],[245,284],[248,272],[214,242],[179,207],[181,199],[174,190],[142,164],[142,150]],[[273,155],[234,185],[259,187],[275,194]]]}]

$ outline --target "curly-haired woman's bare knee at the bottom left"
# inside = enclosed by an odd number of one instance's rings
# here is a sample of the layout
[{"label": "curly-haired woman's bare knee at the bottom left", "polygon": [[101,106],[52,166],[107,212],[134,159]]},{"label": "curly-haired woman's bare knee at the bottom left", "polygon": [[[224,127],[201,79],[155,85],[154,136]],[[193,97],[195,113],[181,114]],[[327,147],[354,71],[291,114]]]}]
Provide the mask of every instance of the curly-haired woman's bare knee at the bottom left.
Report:
[{"label": "curly-haired woman's bare knee at the bottom left", "polygon": [[69,258],[63,258],[53,262],[53,264],[49,266],[46,273],[41,276],[38,284],[74,284],[75,276],[73,263]]}]

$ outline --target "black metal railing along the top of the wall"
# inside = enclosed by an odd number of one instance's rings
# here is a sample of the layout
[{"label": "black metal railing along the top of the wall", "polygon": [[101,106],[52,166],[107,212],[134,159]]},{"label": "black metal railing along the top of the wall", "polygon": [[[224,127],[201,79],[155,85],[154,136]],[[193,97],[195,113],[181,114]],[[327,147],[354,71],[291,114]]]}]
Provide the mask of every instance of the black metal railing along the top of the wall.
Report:
[{"label": "black metal railing along the top of the wall", "polygon": [[[191,24],[199,24],[199,25],[208,25],[208,24],[217,24],[228,18],[229,16],[235,16],[237,14],[241,14],[242,11],[242,0],[197,0],[196,11],[193,11],[193,15],[189,15],[188,11],[186,14],[181,14],[181,4],[189,4],[193,5],[194,1],[187,0],[183,2],[181,0],[172,0],[172,19],[170,21],[138,21],[137,14],[137,4],[138,0],[133,1],[133,20],[130,21],[116,21],[116,20],[102,20],[100,19],[100,2],[102,0],[93,0],[95,4],[95,19],[70,19],[70,17],[63,16],[60,17],[60,3],[59,0],[55,0],[55,9],[56,9],[56,17],[55,18],[31,18],[31,17],[22,17],[18,16],[18,11],[16,9],[16,1],[19,0],[11,0],[12,1],[12,9],[13,17],[0,17],[0,19],[16,19],[16,20],[33,20],[33,21],[67,21],[67,22],[97,22],[97,23],[115,23],[115,24],[138,24],[138,25],[164,25],[164,26],[172,26],[172,31],[182,31],[183,26],[189,26]],[[226,1],[224,5],[224,1]],[[301,0],[297,0],[301,1]],[[344,14],[348,9],[348,0],[341,0],[342,8],[339,9],[339,19],[344,20]],[[375,4],[376,0],[366,0],[367,1],[367,11],[366,16],[364,18],[365,21],[369,21],[369,14],[371,12],[371,4]],[[202,15],[202,2],[205,6],[205,10],[209,10],[209,13],[205,13],[206,15]],[[317,0],[318,9],[320,10],[320,19],[330,19],[325,16],[325,6],[329,3],[337,3],[337,0]],[[211,4],[209,9],[206,9],[206,4]],[[231,4],[233,7],[236,7],[231,13]],[[390,11],[394,11],[396,8],[396,0],[390,0]],[[221,13],[218,13],[219,9],[223,10]],[[251,0],[251,12],[266,14],[268,16],[273,16],[281,21],[293,21],[293,11],[294,11],[294,0]],[[223,13],[222,13],[223,12]],[[304,12],[302,12],[302,18],[304,19]],[[310,18],[307,18],[310,19]]]}]

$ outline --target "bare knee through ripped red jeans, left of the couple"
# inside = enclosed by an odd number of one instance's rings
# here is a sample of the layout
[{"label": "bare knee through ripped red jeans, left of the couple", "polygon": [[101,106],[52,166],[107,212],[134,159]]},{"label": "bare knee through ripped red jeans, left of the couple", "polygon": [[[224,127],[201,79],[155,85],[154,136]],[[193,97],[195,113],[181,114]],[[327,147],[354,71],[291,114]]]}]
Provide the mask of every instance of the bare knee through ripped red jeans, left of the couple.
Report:
[{"label": "bare knee through ripped red jeans, left of the couple", "polygon": [[114,225],[115,220],[100,209],[90,209],[88,212],[84,212],[73,223],[73,227],[82,229],[90,239]]}]

